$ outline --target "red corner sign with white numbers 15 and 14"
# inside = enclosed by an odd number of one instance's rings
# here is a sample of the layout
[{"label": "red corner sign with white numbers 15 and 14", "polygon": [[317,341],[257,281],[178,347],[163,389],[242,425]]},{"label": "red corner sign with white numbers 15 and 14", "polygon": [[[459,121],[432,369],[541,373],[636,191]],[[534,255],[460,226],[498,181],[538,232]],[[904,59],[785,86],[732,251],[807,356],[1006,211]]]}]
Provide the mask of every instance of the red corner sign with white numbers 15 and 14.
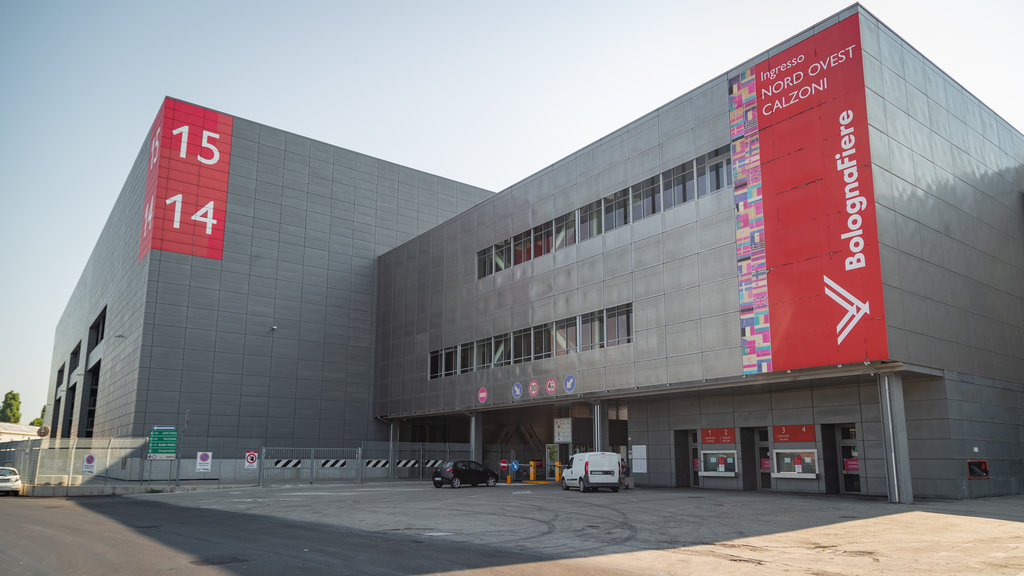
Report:
[{"label": "red corner sign with white numbers 15 and 14", "polygon": [[232,122],[164,99],[150,130],[139,260],[151,249],[221,259]]}]

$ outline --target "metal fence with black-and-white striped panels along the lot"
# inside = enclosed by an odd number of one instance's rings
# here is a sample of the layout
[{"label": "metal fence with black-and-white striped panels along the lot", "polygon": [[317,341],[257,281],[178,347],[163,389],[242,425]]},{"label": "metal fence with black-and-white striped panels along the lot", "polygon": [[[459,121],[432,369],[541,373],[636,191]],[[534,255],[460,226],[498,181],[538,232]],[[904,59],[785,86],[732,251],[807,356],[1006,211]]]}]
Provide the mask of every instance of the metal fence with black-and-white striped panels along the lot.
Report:
[{"label": "metal fence with black-and-white striped panels along the lot", "polygon": [[[280,448],[262,439],[184,437],[168,459],[151,459],[147,438],[39,439],[0,443],[0,465],[29,486],[268,485],[429,481],[444,460],[471,459],[472,446],[365,442],[357,448]],[[519,454],[525,456],[521,447]],[[483,463],[513,460],[508,446],[483,447]],[[175,457],[176,456],[176,457]]]}]

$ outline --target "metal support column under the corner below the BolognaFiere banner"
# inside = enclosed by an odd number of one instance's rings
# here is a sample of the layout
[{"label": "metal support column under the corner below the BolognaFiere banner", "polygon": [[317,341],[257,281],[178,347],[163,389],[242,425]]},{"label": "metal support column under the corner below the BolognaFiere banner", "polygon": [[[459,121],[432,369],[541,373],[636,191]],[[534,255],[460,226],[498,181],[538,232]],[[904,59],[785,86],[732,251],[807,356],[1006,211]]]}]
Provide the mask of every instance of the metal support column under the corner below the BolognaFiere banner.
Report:
[{"label": "metal support column under the corner below the BolognaFiere banner", "polygon": [[882,444],[885,449],[886,484],[890,502],[913,503],[910,482],[910,452],[906,439],[906,410],[903,405],[903,377],[880,373],[879,408],[882,415]]}]

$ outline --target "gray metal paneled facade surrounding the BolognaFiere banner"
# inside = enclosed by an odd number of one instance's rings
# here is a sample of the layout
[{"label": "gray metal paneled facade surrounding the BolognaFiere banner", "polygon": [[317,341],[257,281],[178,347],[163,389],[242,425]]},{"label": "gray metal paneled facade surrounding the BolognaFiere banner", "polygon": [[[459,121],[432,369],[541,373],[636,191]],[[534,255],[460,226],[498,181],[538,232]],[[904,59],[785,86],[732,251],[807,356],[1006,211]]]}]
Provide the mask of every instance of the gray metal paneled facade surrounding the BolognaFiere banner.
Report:
[{"label": "gray metal paneled facade surrounding the BolognaFiere banner", "polygon": [[[885,369],[899,376],[896,387],[881,383],[878,363],[743,376],[731,189],[478,279],[481,248],[728,145],[728,79],[856,13],[882,246]],[[825,451],[831,439],[822,437],[848,423],[861,450],[860,493],[892,497],[903,478],[923,496],[1019,493],[1022,190],[1024,136],[852,6],[384,254],[376,411],[507,421],[542,406],[564,416],[573,403],[615,402],[628,408],[629,446],[647,451],[648,471],[637,482],[656,486],[684,484],[679,430],[806,421],[818,434],[809,447]],[[428,377],[434,351],[625,302],[633,306],[629,344]],[[561,382],[569,374],[578,381],[571,393],[559,386],[553,396],[513,398],[513,382]],[[880,410],[880,390],[895,416]],[[885,429],[894,435],[889,442]],[[887,471],[904,453],[905,469]],[[989,480],[968,478],[972,458],[988,460]],[[739,483],[707,479],[712,487],[744,488]],[[834,491],[823,477],[772,488]]]}]

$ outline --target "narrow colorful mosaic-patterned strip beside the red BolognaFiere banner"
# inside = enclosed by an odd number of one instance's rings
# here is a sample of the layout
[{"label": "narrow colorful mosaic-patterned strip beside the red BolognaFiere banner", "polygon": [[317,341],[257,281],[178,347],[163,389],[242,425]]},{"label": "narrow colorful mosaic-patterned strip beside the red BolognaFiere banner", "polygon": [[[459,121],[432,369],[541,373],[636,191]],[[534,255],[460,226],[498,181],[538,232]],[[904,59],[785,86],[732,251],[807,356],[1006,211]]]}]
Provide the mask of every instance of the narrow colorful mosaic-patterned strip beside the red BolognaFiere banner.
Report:
[{"label": "narrow colorful mosaic-patterned strip beside the red BolognaFiere banner", "polygon": [[754,69],[730,79],[729,137],[736,203],[736,266],[743,374],[771,372],[768,270],[761,203],[761,145]]}]

